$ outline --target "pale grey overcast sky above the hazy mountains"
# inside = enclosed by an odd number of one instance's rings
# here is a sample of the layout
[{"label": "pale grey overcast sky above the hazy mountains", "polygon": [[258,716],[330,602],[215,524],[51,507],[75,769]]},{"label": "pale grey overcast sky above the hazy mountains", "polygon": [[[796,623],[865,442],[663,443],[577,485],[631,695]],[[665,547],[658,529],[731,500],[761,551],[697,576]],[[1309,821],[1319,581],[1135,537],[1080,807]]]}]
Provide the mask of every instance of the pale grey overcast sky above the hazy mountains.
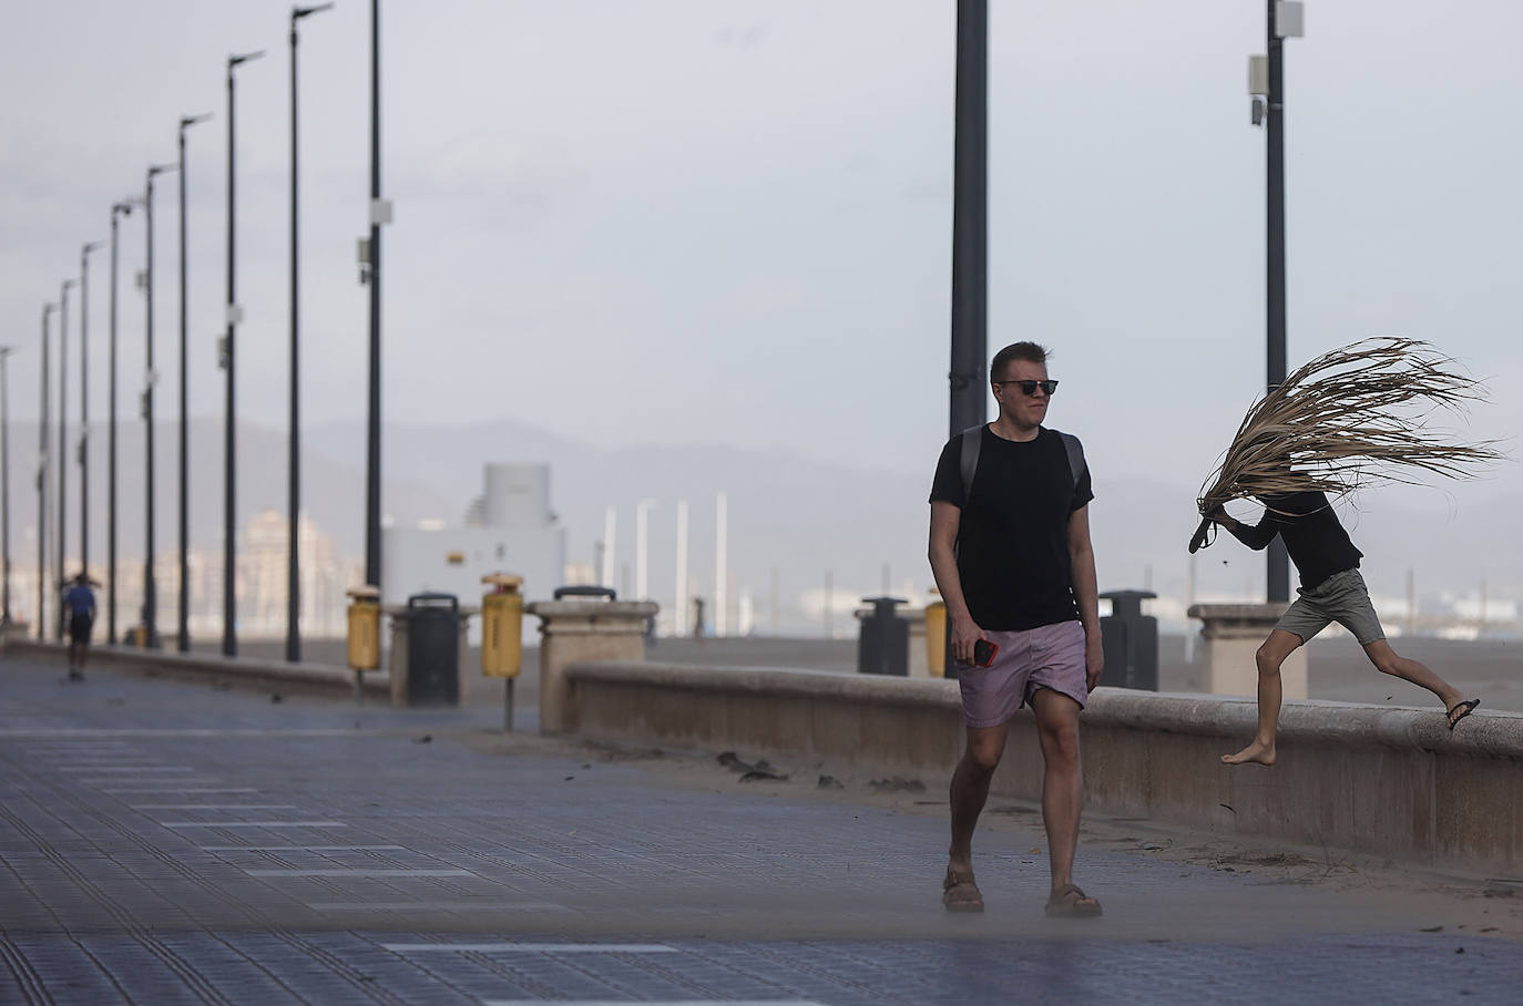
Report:
[{"label": "pale grey overcast sky above the hazy mountains", "polygon": [[[603,444],[781,447],[929,470],[946,438],[952,0],[391,0],[388,422],[510,417]],[[1197,485],[1264,380],[1255,0],[995,0],[990,352],[1054,347],[1051,423],[1104,478]],[[190,406],[221,414],[224,59],[239,70],[239,402],[283,428],[289,6],[9,5],[0,318],[35,415],[41,304],[190,132]],[[1523,428],[1523,5],[1313,0],[1285,44],[1292,365],[1371,335],[1491,379]],[[369,3],[302,23],[303,415],[364,417]],[[175,178],[160,178],[160,415]],[[143,224],[122,227],[140,380]],[[91,259],[104,414],[105,251]],[[76,333],[78,301],[70,307]],[[75,335],[78,338],[78,335]],[[78,345],[70,356],[78,359]],[[73,396],[78,400],[78,396]],[[123,393],[122,415],[136,411]],[[359,444],[356,444],[356,450]],[[1467,493],[1517,489],[1506,466]]]}]

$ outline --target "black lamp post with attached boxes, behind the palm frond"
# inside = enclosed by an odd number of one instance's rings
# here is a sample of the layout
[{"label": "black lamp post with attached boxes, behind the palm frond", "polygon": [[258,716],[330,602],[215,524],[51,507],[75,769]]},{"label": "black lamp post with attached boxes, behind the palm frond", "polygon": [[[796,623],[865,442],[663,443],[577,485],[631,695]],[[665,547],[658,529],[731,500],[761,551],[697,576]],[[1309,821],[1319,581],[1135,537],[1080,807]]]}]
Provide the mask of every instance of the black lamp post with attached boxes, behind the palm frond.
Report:
[{"label": "black lamp post with attached boxes, behind the palm frond", "polygon": [[[1267,0],[1267,56],[1249,59],[1253,125],[1266,132],[1266,371],[1269,388],[1285,380],[1285,46],[1302,35],[1304,6],[1295,0]],[[1290,600],[1290,554],[1276,537],[1266,557],[1267,597]]]}]

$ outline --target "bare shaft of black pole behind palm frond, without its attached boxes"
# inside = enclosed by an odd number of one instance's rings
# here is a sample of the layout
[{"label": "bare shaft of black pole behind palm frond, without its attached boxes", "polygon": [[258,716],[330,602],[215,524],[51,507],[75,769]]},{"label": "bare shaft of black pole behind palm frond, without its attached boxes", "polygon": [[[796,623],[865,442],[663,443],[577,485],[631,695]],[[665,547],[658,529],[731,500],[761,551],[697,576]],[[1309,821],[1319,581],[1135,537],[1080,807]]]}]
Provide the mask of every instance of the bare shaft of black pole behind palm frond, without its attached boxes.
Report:
[{"label": "bare shaft of black pole behind palm frond, without its attached boxes", "polygon": [[[1275,3],[1269,8],[1269,164],[1266,186],[1267,205],[1267,376],[1269,387],[1276,388],[1285,380],[1285,61],[1284,40],[1275,23]],[[1269,545],[1267,584],[1269,600],[1290,600],[1290,556],[1285,543],[1276,537]]]}]

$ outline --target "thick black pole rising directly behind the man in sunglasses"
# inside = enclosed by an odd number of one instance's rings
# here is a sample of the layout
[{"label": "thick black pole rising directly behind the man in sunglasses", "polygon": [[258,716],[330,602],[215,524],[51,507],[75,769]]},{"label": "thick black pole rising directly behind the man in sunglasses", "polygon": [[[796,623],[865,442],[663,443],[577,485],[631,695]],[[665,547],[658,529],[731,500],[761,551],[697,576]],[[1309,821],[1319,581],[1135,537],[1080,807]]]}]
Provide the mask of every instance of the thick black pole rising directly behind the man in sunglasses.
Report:
[{"label": "thick black pole rising directly behind the man in sunglasses", "polygon": [[988,3],[956,5],[956,135],[952,190],[950,434],[987,415]]}]

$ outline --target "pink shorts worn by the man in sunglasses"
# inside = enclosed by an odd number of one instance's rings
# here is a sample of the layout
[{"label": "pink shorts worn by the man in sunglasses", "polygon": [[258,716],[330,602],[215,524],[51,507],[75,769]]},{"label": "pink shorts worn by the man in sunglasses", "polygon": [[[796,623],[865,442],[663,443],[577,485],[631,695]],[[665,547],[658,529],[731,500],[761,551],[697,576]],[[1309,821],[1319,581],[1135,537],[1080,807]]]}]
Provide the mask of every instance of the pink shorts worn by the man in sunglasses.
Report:
[{"label": "pink shorts worn by the man in sunglasses", "polygon": [[1074,622],[1039,626],[1027,632],[985,632],[999,647],[990,667],[959,664],[963,721],[972,727],[1001,726],[1031,702],[1039,688],[1051,688],[1078,703],[1089,702],[1084,679],[1084,627]]}]

